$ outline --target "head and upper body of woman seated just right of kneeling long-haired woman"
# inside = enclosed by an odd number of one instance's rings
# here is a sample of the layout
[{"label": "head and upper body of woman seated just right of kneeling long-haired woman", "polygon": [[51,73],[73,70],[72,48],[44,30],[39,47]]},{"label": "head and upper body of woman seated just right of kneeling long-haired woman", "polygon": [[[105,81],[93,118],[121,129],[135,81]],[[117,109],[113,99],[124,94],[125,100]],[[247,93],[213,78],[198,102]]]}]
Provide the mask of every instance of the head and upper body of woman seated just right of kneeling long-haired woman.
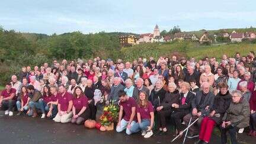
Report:
[{"label": "head and upper body of woman seated just right of kneeling long-haired woman", "polygon": [[156,81],[155,88],[152,89],[149,101],[153,104],[153,107],[158,107],[164,100],[167,91],[163,88],[161,80]]}]

